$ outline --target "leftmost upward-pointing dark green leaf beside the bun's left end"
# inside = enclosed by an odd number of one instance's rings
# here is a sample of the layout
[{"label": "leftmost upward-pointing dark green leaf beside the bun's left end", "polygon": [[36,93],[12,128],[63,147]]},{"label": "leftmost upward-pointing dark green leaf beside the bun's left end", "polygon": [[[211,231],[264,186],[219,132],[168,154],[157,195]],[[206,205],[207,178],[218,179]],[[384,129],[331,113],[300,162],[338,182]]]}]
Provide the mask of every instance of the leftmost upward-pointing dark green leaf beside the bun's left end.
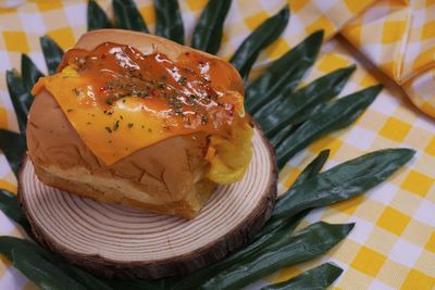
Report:
[{"label": "leftmost upward-pointing dark green leaf beside the bun's left end", "polygon": [[24,133],[27,126],[27,114],[34,98],[24,86],[23,79],[15,71],[7,71],[7,85],[11,101],[15,110],[20,131]]}]

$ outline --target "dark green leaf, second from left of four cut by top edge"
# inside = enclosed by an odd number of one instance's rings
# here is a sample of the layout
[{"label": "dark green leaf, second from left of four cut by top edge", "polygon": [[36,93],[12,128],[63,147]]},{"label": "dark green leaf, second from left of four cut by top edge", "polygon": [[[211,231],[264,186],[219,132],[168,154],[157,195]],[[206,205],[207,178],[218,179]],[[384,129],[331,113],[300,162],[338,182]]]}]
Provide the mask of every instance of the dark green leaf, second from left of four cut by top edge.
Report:
[{"label": "dark green leaf, second from left of four cut by top edge", "polygon": [[148,27],[133,0],[113,0],[113,14],[119,28],[148,34]]}]

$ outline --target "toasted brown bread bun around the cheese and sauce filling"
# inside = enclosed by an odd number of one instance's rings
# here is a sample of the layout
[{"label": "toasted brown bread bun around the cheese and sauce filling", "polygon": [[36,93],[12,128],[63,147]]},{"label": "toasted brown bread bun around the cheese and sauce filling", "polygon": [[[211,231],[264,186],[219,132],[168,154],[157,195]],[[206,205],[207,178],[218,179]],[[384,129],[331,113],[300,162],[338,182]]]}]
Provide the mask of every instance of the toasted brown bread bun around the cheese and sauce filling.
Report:
[{"label": "toasted brown bread bun around the cheese and sauce filling", "polygon": [[[75,48],[92,50],[108,41],[132,46],[144,54],[161,52],[174,61],[194,51],[164,38],[121,29],[87,33]],[[217,63],[225,76],[224,89],[243,93],[243,79],[232,65],[198,53]],[[206,178],[207,142],[203,133],[176,136],[105,165],[82,141],[47,90],[35,97],[27,126],[28,155],[42,182],[102,202],[185,218],[199,212],[215,187]]]}]

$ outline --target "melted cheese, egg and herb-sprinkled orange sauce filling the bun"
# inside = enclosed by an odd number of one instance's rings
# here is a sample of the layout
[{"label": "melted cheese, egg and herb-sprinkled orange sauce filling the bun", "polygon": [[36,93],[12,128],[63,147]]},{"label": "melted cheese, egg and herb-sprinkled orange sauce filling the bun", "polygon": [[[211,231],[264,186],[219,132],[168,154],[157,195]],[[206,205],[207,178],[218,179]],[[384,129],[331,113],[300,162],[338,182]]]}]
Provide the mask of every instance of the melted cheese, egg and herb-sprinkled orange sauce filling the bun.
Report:
[{"label": "melted cheese, egg and herb-sprinkled orange sauce filling the bun", "polygon": [[89,150],[111,165],[161,140],[206,133],[208,178],[240,180],[251,160],[252,128],[244,98],[224,90],[219,63],[195,51],[176,61],[107,42],[72,49],[58,73],[35,85],[48,90]]}]

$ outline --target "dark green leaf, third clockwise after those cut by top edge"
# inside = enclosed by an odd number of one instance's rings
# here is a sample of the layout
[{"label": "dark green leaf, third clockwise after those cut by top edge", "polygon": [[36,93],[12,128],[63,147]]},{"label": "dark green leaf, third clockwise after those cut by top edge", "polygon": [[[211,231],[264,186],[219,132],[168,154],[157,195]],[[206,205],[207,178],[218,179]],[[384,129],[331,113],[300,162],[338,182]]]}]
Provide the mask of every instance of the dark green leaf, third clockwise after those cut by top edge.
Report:
[{"label": "dark green leaf, third clockwise after those cut by top edge", "polygon": [[323,106],[343,90],[353,71],[355,66],[337,70],[286,98],[271,100],[254,114],[256,121],[268,137],[274,136],[284,126],[306,121],[302,118],[310,115],[318,105]]}]

